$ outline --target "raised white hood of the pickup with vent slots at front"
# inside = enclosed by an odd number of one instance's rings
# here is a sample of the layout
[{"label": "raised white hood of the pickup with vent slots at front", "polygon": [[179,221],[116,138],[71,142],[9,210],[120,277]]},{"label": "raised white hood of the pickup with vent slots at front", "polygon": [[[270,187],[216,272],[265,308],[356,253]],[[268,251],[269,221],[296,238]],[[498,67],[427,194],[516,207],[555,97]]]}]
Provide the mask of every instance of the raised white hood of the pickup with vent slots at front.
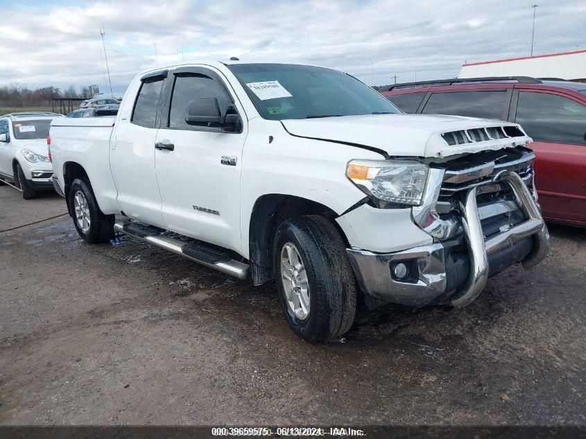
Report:
[{"label": "raised white hood of the pickup with vent slots at front", "polygon": [[[293,136],[375,148],[388,157],[447,157],[510,148],[531,141],[515,123],[474,117],[366,114],[288,119],[282,123]],[[476,131],[478,128],[480,132]]]}]

